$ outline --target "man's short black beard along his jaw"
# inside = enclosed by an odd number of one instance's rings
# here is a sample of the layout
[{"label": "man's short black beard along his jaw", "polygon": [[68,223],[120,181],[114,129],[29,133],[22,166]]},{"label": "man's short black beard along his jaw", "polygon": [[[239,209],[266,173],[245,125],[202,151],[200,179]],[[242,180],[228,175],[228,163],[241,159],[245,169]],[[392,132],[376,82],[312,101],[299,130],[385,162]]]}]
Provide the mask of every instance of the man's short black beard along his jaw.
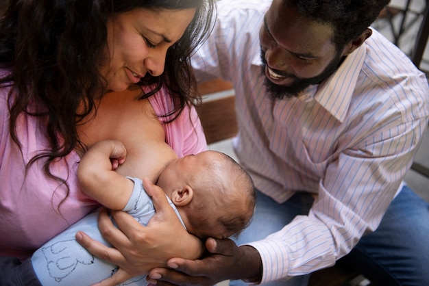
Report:
[{"label": "man's short black beard along his jaw", "polygon": [[306,90],[308,86],[311,86],[312,84],[321,83],[321,81],[324,81],[327,79],[338,66],[343,62],[343,57],[341,57],[340,53],[336,53],[334,59],[328,64],[328,66],[323,70],[319,75],[315,77],[309,77],[309,78],[299,78],[295,75],[291,74],[285,74],[278,70],[275,70],[275,73],[278,73],[279,75],[284,75],[286,77],[290,77],[294,79],[293,83],[291,83],[289,86],[279,86],[272,81],[270,81],[267,78],[267,75],[265,74],[265,70],[267,68],[267,60],[265,60],[265,52],[260,51],[260,57],[262,60],[262,75],[265,77],[264,85],[265,89],[267,90],[267,94],[269,95],[270,99],[273,100],[280,100],[280,99],[291,99],[293,97],[299,96],[301,92]]}]

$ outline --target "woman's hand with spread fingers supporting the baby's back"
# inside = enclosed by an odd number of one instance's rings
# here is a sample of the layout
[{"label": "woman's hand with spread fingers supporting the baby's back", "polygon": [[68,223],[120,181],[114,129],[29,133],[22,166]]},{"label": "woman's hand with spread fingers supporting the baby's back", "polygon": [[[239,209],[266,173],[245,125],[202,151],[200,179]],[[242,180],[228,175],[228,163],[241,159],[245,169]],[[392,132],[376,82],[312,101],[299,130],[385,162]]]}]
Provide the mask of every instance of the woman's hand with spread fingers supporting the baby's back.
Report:
[{"label": "woman's hand with spread fingers supporting the baby's back", "polygon": [[99,229],[114,248],[82,232],[76,235],[77,241],[90,253],[119,266],[119,271],[101,285],[114,285],[147,274],[152,268],[165,266],[172,257],[197,259],[204,251],[201,241],[184,229],[160,187],[148,179],[143,180],[143,185],[156,208],[156,214],[147,226],[123,211],[112,211],[117,229],[104,210],[99,216]]}]

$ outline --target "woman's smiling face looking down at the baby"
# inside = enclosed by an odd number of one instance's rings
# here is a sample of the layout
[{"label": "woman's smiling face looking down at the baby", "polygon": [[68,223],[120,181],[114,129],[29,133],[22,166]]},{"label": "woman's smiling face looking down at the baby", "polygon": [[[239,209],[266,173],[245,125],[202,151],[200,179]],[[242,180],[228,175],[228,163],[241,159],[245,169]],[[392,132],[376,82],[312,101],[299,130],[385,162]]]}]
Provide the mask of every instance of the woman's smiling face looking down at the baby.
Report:
[{"label": "woman's smiling face looking down at the baby", "polygon": [[149,10],[137,8],[108,20],[108,59],[101,65],[107,89],[120,92],[146,73],[161,75],[167,49],[191,23],[195,9]]}]

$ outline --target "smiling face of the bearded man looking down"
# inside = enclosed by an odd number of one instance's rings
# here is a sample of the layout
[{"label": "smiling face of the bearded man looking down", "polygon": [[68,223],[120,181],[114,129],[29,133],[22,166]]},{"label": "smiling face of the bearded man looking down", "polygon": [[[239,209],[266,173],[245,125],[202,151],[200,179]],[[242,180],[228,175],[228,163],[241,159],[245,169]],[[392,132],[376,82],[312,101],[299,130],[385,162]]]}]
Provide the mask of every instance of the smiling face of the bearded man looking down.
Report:
[{"label": "smiling face of the bearded man looking down", "polygon": [[330,25],[309,21],[294,8],[274,0],[260,29],[262,72],[273,99],[293,97],[320,83],[339,66]]}]

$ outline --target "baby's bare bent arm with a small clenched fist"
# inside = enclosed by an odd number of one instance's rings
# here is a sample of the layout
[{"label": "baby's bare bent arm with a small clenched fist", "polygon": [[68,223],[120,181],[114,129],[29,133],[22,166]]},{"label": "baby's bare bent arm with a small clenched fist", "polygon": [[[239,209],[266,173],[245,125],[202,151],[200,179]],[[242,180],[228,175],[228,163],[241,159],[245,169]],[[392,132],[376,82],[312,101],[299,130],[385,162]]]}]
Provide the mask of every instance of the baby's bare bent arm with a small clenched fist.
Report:
[{"label": "baby's bare bent arm with a small clenched fist", "polygon": [[114,170],[125,161],[127,151],[117,140],[91,146],[77,169],[82,190],[109,209],[121,210],[130,199],[134,183]]}]

